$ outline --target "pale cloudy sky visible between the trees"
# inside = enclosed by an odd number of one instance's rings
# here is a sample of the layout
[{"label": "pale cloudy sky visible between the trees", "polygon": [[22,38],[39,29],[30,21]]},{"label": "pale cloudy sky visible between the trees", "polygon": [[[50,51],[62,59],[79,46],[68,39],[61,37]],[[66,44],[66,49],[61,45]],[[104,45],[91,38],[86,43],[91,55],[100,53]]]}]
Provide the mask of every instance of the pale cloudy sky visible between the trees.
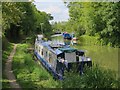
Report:
[{"label": "pale cloudy sky visible between the trees", "polygon": [[67,21],[69,19],[68,8],[62,0],[35,0],[34,4],[40,11],[45,11],[53,16],[50,22]]}]

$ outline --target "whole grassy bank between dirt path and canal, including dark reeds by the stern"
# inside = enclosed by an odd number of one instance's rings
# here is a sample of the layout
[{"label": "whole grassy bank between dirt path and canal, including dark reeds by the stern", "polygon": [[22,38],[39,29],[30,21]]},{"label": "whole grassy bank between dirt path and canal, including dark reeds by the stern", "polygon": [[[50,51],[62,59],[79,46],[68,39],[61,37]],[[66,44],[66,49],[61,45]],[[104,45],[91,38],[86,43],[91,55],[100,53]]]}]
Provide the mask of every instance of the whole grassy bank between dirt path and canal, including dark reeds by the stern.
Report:
[{"label": "whole grassy bank between dirt path and canal, including dark reeds by the stern", "polygon": [[93,65],[78,73],[65,73],[65,80],[55,81],[53,77],[33,59],[29,44],[19,44],[13,61],[13,71],[22,88],[117,88],[118,80],[114,72]]}]

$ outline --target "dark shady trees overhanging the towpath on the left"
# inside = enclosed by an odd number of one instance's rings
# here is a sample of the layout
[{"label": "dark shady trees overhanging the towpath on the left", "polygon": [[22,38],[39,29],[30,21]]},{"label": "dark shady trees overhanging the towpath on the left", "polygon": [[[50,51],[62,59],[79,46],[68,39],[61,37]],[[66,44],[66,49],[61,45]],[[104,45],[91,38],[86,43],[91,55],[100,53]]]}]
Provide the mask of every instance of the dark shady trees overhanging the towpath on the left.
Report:
[{"label": "dark shady trees overhanging the towpath on the left", "polygon": [[52,33],[49,20],[53,17],[38,11],[31,2],[3,2],[2,16],[3,33],[10,41],[19,41],[28,35],[42,34],[42,31],[47,37]]}]

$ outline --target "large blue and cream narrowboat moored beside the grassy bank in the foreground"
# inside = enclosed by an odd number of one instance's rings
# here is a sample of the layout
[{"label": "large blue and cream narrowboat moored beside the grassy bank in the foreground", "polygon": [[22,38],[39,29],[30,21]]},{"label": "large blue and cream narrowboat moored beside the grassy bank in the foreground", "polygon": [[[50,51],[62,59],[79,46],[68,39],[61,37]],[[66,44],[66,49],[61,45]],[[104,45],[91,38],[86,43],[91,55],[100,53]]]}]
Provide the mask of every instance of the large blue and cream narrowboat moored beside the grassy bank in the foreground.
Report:
[{"label": "large blue and cream narrowboat moored beside the grassy bank in the foreground", "polygon": [[69,45],[44,41],[42,35],[35,40],[35,55],[43,66],[59,80],[64,79],[64,71],[75,70],[83,73],[83,67],[92,66],[92,60],[85,56],[85,51],[77,50]]}]

